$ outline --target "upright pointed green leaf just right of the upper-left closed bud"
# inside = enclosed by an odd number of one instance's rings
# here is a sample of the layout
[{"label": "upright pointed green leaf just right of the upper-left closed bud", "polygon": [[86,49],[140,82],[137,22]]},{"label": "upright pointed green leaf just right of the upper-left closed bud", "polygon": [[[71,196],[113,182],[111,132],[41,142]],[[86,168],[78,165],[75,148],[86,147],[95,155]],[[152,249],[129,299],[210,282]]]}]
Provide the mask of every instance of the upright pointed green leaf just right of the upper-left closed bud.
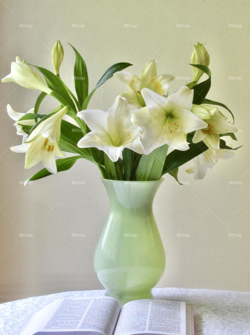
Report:
[{"label": "upright pointed green leaf just right of the upper-left closed bud", "polygon": [[75,77],[75,91],[77,94],[79,106],[82,106],[84,100],[88,95],[88,73],[86,64],[78,53],[78,51],[69,44],[75,52],[75,66],[74,66],[74,77]]}]

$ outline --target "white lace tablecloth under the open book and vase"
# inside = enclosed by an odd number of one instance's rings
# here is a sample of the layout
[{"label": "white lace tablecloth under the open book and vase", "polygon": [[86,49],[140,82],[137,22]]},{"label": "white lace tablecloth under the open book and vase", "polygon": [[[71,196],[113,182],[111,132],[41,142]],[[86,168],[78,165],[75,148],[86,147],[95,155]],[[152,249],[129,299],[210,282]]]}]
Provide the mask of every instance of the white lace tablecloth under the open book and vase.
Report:
[{"label": "white lace tablecloth under the open book and vase", "polygon": [[[194,308],[195,335],[250,335],[250,293],[155,288],[154,298],[185,301]],[[0,305],[0,335],[19,335],[30,317],[58,298],[102,296],[104,290],[62,292]]]}]

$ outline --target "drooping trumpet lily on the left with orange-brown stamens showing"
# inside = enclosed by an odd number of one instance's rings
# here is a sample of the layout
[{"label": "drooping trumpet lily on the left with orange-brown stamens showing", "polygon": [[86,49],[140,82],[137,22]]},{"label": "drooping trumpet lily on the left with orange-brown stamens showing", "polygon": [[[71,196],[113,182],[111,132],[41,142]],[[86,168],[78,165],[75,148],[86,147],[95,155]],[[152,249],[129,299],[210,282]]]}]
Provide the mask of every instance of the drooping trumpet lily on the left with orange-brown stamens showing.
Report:
[{"label": "drooping trumpet lily on the left with orange-brown stamens showing", "polygon": [[61,121],[67,111],[68,107],[63,107],[60,111],[42,121],[23,144],[10,148],[14,152],[26,152],[25,169],[29,169],[42,161],[49,172],[57,172],[55,155],[64,156],[58,142],[61,134]]}]

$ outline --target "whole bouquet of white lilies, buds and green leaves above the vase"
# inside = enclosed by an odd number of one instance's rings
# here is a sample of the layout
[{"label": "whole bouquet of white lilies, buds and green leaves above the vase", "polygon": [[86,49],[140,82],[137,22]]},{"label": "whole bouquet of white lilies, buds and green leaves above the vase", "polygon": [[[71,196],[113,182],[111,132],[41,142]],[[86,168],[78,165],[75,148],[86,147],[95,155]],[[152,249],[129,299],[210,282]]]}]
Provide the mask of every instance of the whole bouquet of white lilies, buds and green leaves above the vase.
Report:
[{"label": "whole bouquet of white lilies, buds and green leaves above the vase", "polygon": [[[27,113],[17,113],[7,106],[17,134],[23,136],[22,144],[11,150],[26,153],[25,169],[40,161],[44,165],[28,180],[68,170],[79,158],[95,163],[104,179],[124,181],[159,180],[166,173],[178,181],[179,166],[193,159],[194,165],[186,171],[195,174],[195,179],[202,179],[218,159],[233,156],[235,149],[223,137],[236,140],[237,128],[218,106],[226,109],[233,121],[234,117],[224,104],[206,98],[211,73],[209,55],[202,44],[194,45],[191,55],[193,81],[172,94],[169,86],[174,76],[157,75],[154,60],[139,76],[124,71],[130,63],[110,66],[89,93],[85,62],[71,47],[76,56],[76,95],[59,75],[64,55],[59,41],[52,50],[54,73],[16,57],[11,73],[2,79],[42,91],[35,107]],[[203,73],[208,78],[198,83]],[[87,109],[92,95],[111,77],[124,82],[126,92],[115,99],[108,111]],[[42,113],[40,105],[46,95],[57,99],[59,106]],[[56,159],[64,157],[63,152],[74,155]]]}]

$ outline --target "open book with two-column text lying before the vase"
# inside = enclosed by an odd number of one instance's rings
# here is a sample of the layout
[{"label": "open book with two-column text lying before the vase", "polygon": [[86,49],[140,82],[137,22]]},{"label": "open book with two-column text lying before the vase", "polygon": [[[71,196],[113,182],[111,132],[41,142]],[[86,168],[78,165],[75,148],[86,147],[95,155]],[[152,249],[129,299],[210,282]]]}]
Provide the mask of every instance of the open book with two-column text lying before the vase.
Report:
[{"label": "open book with two-column text lying before the vase", "polygon": [[20,335],[34,334],[193,335],[193,313],[185,303],[167,300],[134,300],[120,308],[107,296],[61,298],[36,313]]}]

